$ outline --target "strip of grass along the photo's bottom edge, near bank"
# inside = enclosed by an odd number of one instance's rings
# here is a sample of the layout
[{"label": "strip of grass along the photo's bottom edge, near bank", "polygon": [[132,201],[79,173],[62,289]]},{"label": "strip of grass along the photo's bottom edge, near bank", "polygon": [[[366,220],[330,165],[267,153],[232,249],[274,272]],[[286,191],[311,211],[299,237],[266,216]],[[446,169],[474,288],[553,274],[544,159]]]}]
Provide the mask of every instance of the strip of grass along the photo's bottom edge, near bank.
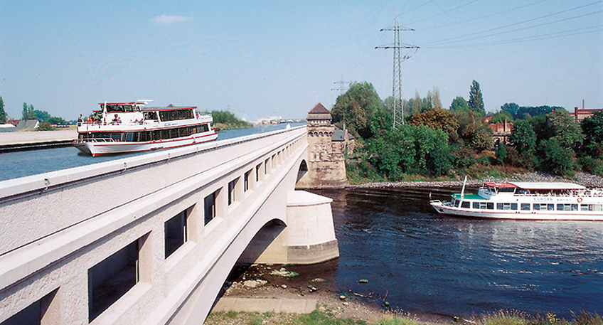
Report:
[{"label": "strip of grass along the photo's bottom edge, near bank", "polygon": [[[253,312],[216,312],[210,313],[206,325],[225,324],[283,324],[283,325],[422,325],[435,324],[421,319],[410,319],[407,316],[395,316],[384,313],[383,319],[367,323],[357,319],[341,319],[333,316],[329,309],[317,309],[310,314],[286,313],[253,313]],[[598,314],[582,311],[574,314],[571,320],[560,319],[553,313],[544,316],[530,316],[520,311],[498,311],[493,314],[475,316],[471,319],[454,318],[451,324],[464,325],[603,325],[603,320]]]}]

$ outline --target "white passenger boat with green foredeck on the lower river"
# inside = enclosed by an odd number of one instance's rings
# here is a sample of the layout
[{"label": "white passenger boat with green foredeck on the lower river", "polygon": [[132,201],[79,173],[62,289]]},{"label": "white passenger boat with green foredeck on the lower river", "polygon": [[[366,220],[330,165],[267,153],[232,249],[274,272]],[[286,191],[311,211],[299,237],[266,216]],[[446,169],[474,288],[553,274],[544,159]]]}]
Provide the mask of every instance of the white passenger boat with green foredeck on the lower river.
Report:
[{"label": "white passenger boat with green foredeck on the lower river", "polygon": [[574,183],[484,183],[477,194],[430,201],[442,214],[525,220],[603,220],[603,189]]}]

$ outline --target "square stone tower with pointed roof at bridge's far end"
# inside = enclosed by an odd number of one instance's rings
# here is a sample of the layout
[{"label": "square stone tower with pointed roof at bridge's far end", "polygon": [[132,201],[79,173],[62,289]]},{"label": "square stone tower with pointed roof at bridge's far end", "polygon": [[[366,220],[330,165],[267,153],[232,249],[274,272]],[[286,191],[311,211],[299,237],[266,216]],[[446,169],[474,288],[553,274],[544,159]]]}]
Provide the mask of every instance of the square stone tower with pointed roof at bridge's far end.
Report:
[{"label": "square stone tower with pointed roof at bridge's far end", "polygon": [[353,150],[354,139],[346,129],[331,124],[331,112],[320,102],[308,112],[307,171],[297,188],[343,188],[346,178],[345,152]]}]

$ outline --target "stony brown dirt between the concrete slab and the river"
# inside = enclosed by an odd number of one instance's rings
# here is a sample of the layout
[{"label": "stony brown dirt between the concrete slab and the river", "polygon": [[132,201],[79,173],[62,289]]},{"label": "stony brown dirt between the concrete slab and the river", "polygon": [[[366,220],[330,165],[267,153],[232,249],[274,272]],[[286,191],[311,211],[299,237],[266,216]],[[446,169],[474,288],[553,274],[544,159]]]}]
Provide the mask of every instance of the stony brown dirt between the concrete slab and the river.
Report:
[{"label": "stony brown dirt between the concrete slab and the river", "polygon": [[[327,262],[329,263],[329,262]],[[338,318],[378,321],[392,316],[405,316],[419,324],[462,324],[454,316],[414,313],[386,308],[386,297],[337,289],[329,265],[247,265],[236,267],[229,275],[220,297],[314,298],[321,309],[330,310]],[[316,276],[316,275],[323,275]]]}]

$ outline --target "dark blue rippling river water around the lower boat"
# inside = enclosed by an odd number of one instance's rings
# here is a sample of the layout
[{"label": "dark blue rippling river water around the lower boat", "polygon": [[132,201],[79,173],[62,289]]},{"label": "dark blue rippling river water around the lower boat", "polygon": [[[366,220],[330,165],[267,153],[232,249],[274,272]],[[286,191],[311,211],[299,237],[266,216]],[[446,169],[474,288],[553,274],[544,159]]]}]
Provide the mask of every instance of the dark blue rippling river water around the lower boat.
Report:
[{"label": "dark blue rippling river water around the lower boat", "polygon": [[[458,188],[315,191],[333,198],[341,289],[394,307],[442,314],[518,309],[603,314],[603,223],[438,215],[429,192]],[[358,279],[369,279],[358,284]]]}]

